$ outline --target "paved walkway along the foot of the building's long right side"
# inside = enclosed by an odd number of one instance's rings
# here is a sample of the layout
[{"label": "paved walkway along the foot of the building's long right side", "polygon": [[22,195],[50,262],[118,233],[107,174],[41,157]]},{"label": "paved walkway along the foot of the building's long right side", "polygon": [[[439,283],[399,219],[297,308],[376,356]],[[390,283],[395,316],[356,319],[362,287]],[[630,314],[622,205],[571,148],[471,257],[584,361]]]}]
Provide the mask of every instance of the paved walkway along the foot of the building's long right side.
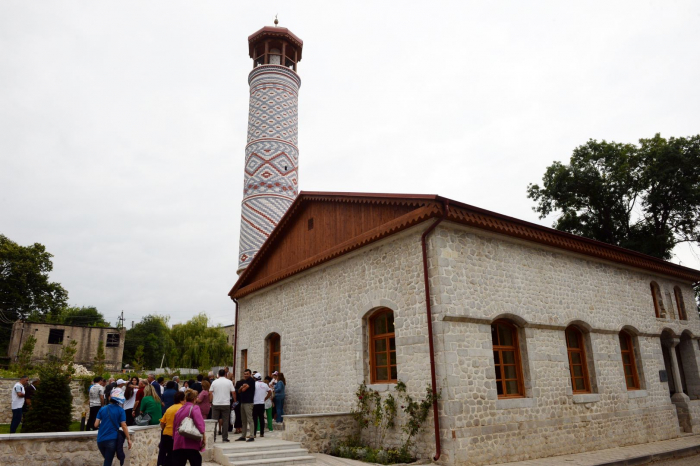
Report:
[{"label": "paved walkway along the foot of the building's long right side", "polygon": [[637,461],[630,464],[644,464],[643,457],[648,458],[647,461],[653,461],[668,458],[674,451],[690,451],[692,449],[700,450],[700,435],[686,435],[662,442],[589,451],[586,453],[577,453],[575,455],[554,456],[537,460],[517,461],[515,463],[500,463],[499,466],[600,466],[625,464],[626,460],[637,458],[639,458]]}]

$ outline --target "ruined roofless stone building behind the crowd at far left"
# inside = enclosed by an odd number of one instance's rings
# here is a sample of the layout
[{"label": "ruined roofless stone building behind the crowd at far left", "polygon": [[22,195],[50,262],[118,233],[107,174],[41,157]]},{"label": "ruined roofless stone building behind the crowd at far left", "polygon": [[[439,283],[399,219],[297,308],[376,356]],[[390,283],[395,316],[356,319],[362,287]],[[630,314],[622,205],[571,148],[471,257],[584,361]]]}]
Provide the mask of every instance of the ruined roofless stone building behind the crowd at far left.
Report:
[{"label": "ruined roofless stone building behind the crowd at far left", "polygon": [[71,340],[77,341],[75,363],[92,368],[97,347],[101,340],[105,350],[105,368],[111,371],[122,369],[125,329],[114,327],[80,327],[77,325],[42,324],[17,321],[12,326],[12,336],[8,355],[16,361],[19,350],[27,337],[36,338],[32,361],[42,363],[48,355],[60,355],[63,345]]}]

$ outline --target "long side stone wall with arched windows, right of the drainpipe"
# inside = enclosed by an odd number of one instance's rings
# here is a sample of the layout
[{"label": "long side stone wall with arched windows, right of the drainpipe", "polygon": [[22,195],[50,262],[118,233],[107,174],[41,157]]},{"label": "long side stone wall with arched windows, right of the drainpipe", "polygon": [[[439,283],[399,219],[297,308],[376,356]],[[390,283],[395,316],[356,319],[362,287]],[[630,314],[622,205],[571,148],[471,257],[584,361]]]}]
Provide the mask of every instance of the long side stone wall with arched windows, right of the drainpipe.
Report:
[{"label": "long side stone wall with arched windows, right of the drainpipe", "polygon": [[[461,227],[431,239],[431,290],[443,390],[441,438],[457,464],[519,461],[679,435],[658,335],[700,321],[657,319],[649,290],[688,284]],[[692,315],[691,315],[692,314]],[[496,394],[490,323],[520,327],[526,397]],[[573,395],[564,329],[585,333],[592,393]],[[635,335],[641,390],[628,391],[619,331]],[[697,345],[696,345],[697,347]],[[697,350],[696,350],[697,351]]]}]

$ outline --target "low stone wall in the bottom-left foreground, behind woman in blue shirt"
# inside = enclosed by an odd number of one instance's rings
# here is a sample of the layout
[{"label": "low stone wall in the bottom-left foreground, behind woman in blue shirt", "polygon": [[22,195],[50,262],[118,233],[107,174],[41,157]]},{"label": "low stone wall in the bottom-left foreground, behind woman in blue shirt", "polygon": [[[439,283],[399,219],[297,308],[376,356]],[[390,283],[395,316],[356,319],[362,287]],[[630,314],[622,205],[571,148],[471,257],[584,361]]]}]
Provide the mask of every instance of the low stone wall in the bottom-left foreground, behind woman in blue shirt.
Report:
[{"label": "low stone wall in the bottom-left foreground, behind woman in blue shirt", "polygon": [[[155,466],[160,426],[131,427],[133,448],[127,450],[126,466]],[[126,446],[126,445],[125,445]],[[97,432],[55,432],[0,435],[3,465],[101,466]],[[114,460],[114,466],[119,465]]]}]

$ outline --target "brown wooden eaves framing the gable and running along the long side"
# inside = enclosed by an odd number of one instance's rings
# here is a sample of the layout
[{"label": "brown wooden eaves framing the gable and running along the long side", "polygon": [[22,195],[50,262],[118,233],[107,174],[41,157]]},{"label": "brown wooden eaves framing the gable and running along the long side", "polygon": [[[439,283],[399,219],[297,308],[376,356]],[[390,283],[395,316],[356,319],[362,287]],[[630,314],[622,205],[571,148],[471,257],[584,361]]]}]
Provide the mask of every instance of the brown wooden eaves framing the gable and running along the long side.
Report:
[{"label": "brown wooden eaves framing the gable and running along the long side", "polygon": [[[311,202],[401,204],[411,206],[413,209],[398,218],[365,231],[350,240],[334,245],[319,254],[249,282],[249,277],[253,276],[255,270],[265,261],[266,253],[284,236],[286,226],[292,221],[295,213],[298,212],[304,204]],[[277,227],[270,234],[270,237],[262,245],[260,251],[255,255],[255,258],[248,268],[246,268],[238,278],[238,281],[229,292],[229,296],[234,299],[242,298],[280,280],[284,280],[292,275],[328,262],[375,241],[379,241],[387,236],[429,220],[430,218],[440,217],[443,215],[444,206],[446,204],[449,205],[449,207],[445,219],[451,222],[647,270],[657,274],[672,276],[686,282],[693,283],[700,281],[700,271],[698,270],[676,265],[618,246],[480,209],[438,195],[301,191],[287,213],[282,217]]]}]

